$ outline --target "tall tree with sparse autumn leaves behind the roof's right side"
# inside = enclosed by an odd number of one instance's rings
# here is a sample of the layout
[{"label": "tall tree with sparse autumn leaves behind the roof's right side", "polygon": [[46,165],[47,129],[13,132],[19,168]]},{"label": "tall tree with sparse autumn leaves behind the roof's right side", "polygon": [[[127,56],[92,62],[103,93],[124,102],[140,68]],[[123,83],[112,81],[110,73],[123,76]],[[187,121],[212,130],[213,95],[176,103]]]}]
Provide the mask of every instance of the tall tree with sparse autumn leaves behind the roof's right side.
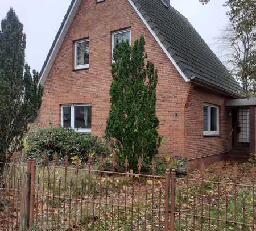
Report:
[{"label": "tall tree with sparse autumn leaves behind the roof's right side", "polygon": [[[207,4],[210,0],[199,0]],[[226,0],[230,26],[218,39],[222,60],[250,96],[256,95],[255,0]]]}]

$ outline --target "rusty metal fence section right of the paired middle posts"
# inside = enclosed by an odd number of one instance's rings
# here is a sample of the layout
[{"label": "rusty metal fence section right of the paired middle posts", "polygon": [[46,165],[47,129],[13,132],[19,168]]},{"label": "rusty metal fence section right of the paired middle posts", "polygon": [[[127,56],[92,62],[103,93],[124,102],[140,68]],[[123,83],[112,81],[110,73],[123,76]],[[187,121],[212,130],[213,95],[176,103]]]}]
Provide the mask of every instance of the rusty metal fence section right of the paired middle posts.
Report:
[{"label": "rusty metal fence section right of the paired middle posts", "polygon": [[243,230],[255,225],[255,167],[247,182],[238,183],[234,165],[233,182],[226,183],[221,169],[205,180],[175,178],[175,230]]}]

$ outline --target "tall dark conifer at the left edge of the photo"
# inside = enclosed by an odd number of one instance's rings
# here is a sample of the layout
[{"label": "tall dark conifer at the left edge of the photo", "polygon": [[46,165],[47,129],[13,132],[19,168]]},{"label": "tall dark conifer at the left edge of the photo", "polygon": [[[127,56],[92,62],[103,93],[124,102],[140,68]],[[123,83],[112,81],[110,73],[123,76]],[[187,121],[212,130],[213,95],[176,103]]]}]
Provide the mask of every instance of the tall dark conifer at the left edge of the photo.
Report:
[{"label": "tall dark conifer at the left edge of the photo", "polygon": [[25,65],[26,36],[13,9],[0,30],[0,161],[20,143],[27,125],[37,116],[43,87],[38,72]]}]

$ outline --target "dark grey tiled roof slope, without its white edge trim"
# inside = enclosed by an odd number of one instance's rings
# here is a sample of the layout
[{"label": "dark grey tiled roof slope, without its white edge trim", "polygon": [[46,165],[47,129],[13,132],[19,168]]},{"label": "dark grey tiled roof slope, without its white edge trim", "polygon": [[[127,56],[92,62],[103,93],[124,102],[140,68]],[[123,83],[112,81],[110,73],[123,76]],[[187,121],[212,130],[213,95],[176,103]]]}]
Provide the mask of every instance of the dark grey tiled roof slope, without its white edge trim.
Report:
[{"label": "dark grey tiled roof slope, without its white edge trim", "polygon": [[188,79],[237,97],[245,96],[241,86],[180,12],[161,0],[132,1]]}]

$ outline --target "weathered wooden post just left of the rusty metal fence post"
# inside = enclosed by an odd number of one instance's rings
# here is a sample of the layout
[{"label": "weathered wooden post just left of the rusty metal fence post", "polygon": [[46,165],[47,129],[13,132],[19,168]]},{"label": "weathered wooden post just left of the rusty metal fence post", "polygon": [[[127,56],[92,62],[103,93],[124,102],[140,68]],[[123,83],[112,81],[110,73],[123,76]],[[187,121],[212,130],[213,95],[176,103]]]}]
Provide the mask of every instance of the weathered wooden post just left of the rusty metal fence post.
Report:
[{"label": "weathered wooden post just left of the rusty metal fence post", "polygon": [[30,217],[30,183],[31,173],[23,173],[20,198],[20,231],[28,230]]}]

